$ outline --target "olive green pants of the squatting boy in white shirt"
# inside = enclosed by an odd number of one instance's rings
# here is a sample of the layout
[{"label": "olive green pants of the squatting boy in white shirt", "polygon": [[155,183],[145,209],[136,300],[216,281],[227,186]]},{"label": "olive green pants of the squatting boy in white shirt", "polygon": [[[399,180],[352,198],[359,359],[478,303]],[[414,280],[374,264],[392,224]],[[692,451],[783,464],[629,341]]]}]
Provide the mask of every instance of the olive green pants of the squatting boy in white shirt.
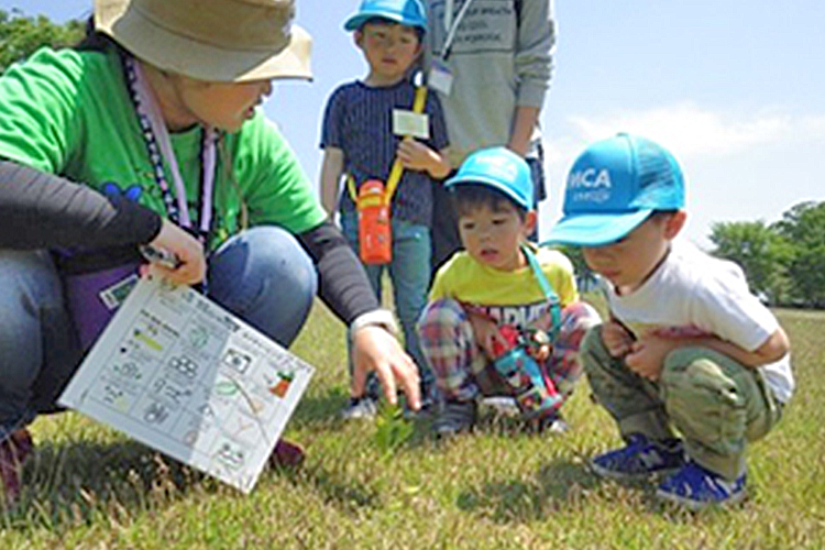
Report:
[{"label": "olive green pants of the squatting boy in white shirt", "polygon": [[585,336],[581,361],[622,436],[681,437],[688,455],[702,466],[732,480],[743,474],[747,442],[762,438],[781,416],[762,375],[713,350],[680,348],[651,382],[610,356],[600,329]]}]

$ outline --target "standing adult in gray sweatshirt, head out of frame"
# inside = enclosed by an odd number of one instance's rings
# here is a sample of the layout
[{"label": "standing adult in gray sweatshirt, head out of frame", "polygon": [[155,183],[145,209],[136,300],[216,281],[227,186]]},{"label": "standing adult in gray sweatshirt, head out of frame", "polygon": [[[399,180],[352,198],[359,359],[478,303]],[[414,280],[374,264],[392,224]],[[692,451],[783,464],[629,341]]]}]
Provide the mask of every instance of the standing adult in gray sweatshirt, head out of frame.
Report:
[{"label": "standing adult in gray sweatshirt, head out of frame", "polygon": [[[535,201],[546,197],[539,113],[550,88],[556,24],[551,0],[428,0],[428,84],[439,92],[450,164],[504,145],[524,156]],[[436,186],[433,273],[460,248],[447,195]]]}]

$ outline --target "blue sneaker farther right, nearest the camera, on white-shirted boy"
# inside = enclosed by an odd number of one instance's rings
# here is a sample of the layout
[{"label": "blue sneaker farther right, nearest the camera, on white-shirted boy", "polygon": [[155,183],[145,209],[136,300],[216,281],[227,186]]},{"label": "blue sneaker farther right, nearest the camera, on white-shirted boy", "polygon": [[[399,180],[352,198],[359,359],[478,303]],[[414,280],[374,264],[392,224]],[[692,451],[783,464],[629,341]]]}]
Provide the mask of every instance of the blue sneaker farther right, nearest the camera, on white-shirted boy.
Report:
[{"label": "blue sneaker farther right, nearest the camera, on white-shirted boy", "polygon": [[693,461],[664,480],[656,492],[657,498],[698,512],[707,506],[735,504],[745,498],[746,475],[728,481],[705,470]]}]

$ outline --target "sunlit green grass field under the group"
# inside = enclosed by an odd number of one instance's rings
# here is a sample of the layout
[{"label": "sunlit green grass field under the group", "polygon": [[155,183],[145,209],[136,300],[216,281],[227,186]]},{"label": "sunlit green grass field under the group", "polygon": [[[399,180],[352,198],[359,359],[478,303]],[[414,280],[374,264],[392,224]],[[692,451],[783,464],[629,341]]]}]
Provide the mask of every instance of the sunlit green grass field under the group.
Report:
[{"label": "sunlit green grass field under the group", "polygon": [[[692,515],[644,485],[590,474],[619,443],[582,384],[563,436],[487,418],[436,444],[427,424],[395,452],[374,424],[336,419],[346,400],[343,329],[323,307],[294,346],[317,374],[287,436],[298,471],[265,472],[244,496],[76,414],[33,426],[37,452],[0,549],[821,549],[825,548],[825,314],[782,310],[799,388],[749,452],[750,496]],[[818,381],[818,382],[817,382]]]}]

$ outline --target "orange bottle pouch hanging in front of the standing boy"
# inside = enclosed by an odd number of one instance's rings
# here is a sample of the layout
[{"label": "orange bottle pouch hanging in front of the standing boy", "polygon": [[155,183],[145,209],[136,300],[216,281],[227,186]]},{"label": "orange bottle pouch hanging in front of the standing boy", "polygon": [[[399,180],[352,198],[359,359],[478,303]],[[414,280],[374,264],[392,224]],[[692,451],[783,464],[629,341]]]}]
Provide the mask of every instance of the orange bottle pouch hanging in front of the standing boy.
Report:
[{"label": "orange bottle pouch hanging in front of the standing boy", "polygon": [[364,182],[359,188],[359,255],[365,264],[388,264],[393,260],[389,201],[384,183]]}]

